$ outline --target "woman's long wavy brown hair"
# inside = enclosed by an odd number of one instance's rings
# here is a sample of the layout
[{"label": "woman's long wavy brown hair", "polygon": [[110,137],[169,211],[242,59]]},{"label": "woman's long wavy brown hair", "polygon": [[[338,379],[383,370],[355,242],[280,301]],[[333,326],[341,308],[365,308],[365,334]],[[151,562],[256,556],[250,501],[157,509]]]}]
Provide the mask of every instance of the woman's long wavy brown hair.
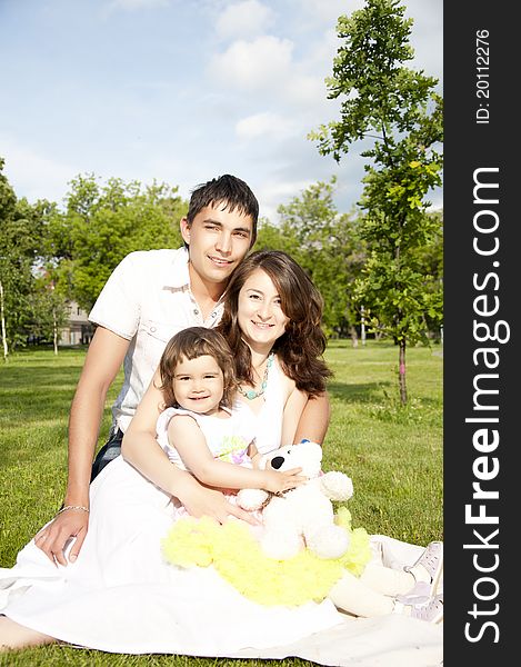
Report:
[{"label": "woman's long wavy brown hair", "polygon": [[251,352],[239,328],[239,292],[257,270],[264,271],[275,286],[281,308],[289,318],[285,332],[273,345],[273,351],[297,388],[310,396],[325,390],[332,376],[323,360],[325,335],[322,330],[323,299],[312,280],[289,255],[280,250],[258,250],[249,255],[233,271],[224,298],[224,312],[217,329],[228,340],[236,359],[239,382],[253,385]]}]

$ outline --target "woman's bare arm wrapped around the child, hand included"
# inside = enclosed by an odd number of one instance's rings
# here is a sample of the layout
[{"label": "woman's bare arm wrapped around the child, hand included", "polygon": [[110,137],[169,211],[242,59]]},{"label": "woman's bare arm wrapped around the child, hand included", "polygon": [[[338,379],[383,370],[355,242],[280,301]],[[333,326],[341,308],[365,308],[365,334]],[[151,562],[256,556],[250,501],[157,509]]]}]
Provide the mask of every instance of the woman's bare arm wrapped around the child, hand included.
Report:
[{"label": "woman's bare arm wrapped around the child, hand included", "polygon": [[223,524],[233,515],[256,524],[249,512],[228,502],[221,491],[201,486],[190,472],[170,462],[156,440],[156,422],[162,402],[159,385],[157,371],[124,434],[121,444],[123,458],[163,491],[179,498],[194,517],[210,516]]}]

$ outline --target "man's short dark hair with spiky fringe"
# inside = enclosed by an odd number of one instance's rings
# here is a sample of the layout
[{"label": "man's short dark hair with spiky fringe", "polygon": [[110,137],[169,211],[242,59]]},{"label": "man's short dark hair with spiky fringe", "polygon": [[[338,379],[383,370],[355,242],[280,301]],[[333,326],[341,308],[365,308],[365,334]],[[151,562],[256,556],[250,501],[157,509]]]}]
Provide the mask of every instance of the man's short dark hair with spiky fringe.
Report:
[{"label": "man's short dark hair with spiky fringe", "polygon": [[252,220],[251,246],[257,238],[257,222],[259,220],[259,202],[248,183],[236,176],[224,173],[218,178],[197,186],[191,193],[187,220],[191,225],[196,216],[207,206],[222,203],[224,209],[238,211],[249,216]]}]

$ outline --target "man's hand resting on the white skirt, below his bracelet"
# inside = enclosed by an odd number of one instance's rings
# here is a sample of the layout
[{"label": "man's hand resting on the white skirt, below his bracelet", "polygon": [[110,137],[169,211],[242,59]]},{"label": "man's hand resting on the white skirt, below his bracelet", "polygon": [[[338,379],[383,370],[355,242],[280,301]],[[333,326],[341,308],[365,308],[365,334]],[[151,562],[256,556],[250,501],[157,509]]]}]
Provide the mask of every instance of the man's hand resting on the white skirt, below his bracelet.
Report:
[{"label": "man's hand resting on the white skirt, below his bracelet", "polygon": [[83,509],[68,509],[59,514],[34,537],[34,544],[56,566],[67,566],[66,546],[71,539],[74,544],[69,554],[69,561],[74,563],[81,550],[89,529],[89,514]]}]

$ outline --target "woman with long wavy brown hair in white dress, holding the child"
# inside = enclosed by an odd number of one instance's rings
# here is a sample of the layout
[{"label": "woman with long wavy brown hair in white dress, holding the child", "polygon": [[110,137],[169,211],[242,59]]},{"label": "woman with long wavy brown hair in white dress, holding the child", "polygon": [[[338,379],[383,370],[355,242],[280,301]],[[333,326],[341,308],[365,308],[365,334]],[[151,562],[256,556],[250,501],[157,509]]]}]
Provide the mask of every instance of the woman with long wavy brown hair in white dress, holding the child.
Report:
[{"label": "woman with long wavy brown hair in white dress, holding the child", "polygon": [[[256,252],[232,277],[220,329],[236,355],[240,400],[251,409],[260,452],[292,442],[308,395],[324,391],[330,371],[321,359],[321,312],[318,290],[283,252]],[[173,466],[156,439],[160,386],[158,371],[122,456],[91,485],[89,532],[78,560],[50,563],[31,541],[14,568],[0,570],[7,598],[0,645],[58,639],[113,653],[226,656],[341,623],[330,600],[262,607],[210,568],[178,570],[163,561],[160,542],[173,520],[172,497],[190,512],[199,482]]]}]

